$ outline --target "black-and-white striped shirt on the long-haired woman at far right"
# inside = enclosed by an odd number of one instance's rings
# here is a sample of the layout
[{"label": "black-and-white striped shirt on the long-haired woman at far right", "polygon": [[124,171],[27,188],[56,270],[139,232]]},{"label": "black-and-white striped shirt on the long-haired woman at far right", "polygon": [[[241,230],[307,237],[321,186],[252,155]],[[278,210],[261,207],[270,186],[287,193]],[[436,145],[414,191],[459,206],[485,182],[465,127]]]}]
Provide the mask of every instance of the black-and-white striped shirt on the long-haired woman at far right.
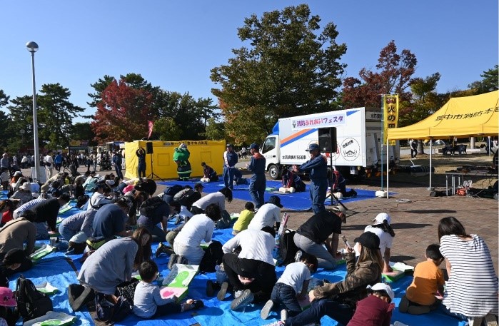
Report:
[{"label": "black-and-white striped shirt on the long-haired woman at far right", "polygon": [[463,240],[457,235],[440,239],[440,253],[450,265],[443,304],[466,317],[498,315],[498,277],[487,244],[478,235]]}]

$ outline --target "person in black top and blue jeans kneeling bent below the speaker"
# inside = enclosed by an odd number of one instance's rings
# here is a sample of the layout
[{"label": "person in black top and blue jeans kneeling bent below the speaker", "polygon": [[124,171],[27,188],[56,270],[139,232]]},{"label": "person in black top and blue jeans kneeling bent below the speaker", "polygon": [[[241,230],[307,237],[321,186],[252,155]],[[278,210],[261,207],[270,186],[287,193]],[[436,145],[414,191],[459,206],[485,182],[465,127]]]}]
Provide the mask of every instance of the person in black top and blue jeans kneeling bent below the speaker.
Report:
[{"label": "person in black top and blue jeans kneeling bent below the speaker", "polygon": [[345,213],[323,210],[296,230],[293,241],[300,250],[317,257],[319,268],[333,270],[336,268],[341,223],[346,223]]}]

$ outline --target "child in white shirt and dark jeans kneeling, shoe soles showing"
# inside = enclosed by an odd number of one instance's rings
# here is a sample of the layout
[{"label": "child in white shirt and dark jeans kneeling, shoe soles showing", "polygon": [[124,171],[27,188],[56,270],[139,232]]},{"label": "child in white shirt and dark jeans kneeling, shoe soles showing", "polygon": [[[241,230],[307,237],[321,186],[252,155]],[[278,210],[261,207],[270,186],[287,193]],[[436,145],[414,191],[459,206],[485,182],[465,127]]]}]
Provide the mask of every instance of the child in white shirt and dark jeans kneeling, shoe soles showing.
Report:
[{"label": "child in white shirt and dark jeans kneeling, shoe soles showing", "polygon": [[301,257],[298,254],[296,257],[298,262],[287,265],[283,275],[274,285],[271,300],[266,302],[260,312],[262,319],[267,319],[276,304],[282,304],[286,308],[281,310],[281,320],[286,320],[288,315],[296,316],[301,312],[298,300],[303,300],[308,295],[311,272],[316,272],[318,262],[316,256],[307,253],[301,253]]}]

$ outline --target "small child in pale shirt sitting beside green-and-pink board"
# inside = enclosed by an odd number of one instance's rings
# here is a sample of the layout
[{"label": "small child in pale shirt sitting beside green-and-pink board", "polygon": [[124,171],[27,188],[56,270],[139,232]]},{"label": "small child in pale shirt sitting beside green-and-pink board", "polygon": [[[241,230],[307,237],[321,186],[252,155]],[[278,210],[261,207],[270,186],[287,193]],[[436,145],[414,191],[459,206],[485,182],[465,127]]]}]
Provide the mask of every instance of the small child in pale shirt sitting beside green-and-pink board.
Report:
[{"label": "small child in pale shirt sitting beside green-and-pink board", "polygon": [[141,263],[138,273],[142,280],[135,288],[133,297],[133,313],[138,317],[159,317],[204,307],[201,300],[189,299],[183,303],[176,303],[176,297],[163,299],[159,294],[158,285],[153,284],[158,277],[158,265],[152,260]]}]

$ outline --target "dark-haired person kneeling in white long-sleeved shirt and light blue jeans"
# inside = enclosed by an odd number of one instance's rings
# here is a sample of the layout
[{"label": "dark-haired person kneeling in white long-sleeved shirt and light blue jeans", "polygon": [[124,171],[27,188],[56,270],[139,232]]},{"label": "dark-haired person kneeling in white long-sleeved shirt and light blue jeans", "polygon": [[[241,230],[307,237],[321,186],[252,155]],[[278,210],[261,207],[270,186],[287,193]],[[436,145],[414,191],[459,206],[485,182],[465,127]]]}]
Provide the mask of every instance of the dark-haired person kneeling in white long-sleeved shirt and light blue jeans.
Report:
[{"label": "dark-haired person kneeling in white long-sleeved shirt and light blue jeans", "polygon": [[217,204],[210,204],[203,214],[194,215],[175,238],[173,250],[176,255],[186,258],[190,265],[199,265],[204,255],[201,241],[211,241],[215,222],[220,219],[220,207]]}]

